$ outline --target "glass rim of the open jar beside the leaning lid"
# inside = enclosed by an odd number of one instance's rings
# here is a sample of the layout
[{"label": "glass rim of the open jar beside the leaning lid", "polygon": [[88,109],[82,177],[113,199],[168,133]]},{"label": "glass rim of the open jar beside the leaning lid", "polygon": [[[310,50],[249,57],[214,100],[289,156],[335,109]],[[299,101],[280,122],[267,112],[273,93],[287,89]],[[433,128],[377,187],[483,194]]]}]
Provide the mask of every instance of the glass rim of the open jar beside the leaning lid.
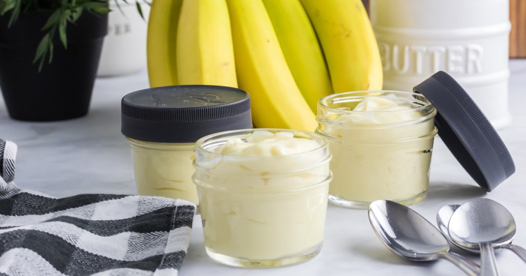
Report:
[{"label": "glass rim of the open jar beside the leaning lid", "polygon": [[[381,96],[383,94],[395,94],[395,95],[404,95],[406,97],[401,99],[410,99],[408,96],[412,96],[412,99],[414,101],[418,101],[419,104],[422,106],[410,108],[410,109],[404,109],[404,110],[386,110],[386,111],[355,111],[355,110],[347,110],[347,109],[340,109],[335,107],[330,107],[329,102],[334,101],[335,99],[338,99],[340,103],[346,103],[351,99],[357,99],[357,98],[366,98],[366,97],[374,97],[374,96]],[[364,95],[365,94],[365,95]],[[415,96],[421,97],[425,99],[425,101],[417,99]],[[406,92],[406,91],[397,91],[397,90],[361,90],[361,91],[349,91],[349,92],[342,92],[342,93],[336,93],[331,94],[328,96],[325,96],[321,98],[318,101],[318,107],[325,109],[327,111],[330,111],[331,113],[338,113],[338,114],[369,114],[369,113],[381,113],[381,114],[395,114],[395,113],[406,113],[406,112],[413,112],[413,111],[422,111],[424,109],[427,109],[432,106],[431,102],[420,93],[413,93],[413,92]]]}]

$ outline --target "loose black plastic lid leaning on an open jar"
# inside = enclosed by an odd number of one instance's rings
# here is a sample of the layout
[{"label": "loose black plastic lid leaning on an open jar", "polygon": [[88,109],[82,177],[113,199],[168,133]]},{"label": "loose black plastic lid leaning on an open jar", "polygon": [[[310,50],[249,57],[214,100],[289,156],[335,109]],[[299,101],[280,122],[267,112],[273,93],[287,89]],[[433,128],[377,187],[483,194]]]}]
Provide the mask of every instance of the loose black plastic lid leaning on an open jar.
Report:
[{"label": "loose black plastic lid leaning on an open jar", "polygon": [[480,187],[491,191],[515,172],[497,131],[450,75],[439,71],[413,90],[437,109],[438,135]]}]

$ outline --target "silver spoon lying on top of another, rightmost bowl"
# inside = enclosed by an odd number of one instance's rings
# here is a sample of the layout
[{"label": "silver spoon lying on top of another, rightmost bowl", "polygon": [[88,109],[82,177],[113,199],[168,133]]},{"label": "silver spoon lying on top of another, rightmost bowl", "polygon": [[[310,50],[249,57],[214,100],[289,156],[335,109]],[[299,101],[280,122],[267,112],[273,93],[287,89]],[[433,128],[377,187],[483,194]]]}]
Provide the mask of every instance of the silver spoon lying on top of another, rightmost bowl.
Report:
[{"label": "silver spoon lying on top of another, rightmost bowl", "polygon": [[511,213],[499,203],[486,198],[472,199],[449,220],[448,233],[462,247],[480,249],[481,275],[499,275],[493,247],[510,243],[517,228]]}]

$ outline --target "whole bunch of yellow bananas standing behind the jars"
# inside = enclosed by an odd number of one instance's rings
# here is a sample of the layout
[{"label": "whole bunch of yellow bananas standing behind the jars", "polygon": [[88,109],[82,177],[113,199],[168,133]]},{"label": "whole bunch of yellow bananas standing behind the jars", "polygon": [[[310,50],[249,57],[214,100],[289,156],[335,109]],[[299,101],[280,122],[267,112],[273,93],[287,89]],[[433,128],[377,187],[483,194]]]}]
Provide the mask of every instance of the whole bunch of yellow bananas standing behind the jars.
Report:
[{"label": "whole bunch of yellow bananas standing behind the jars", "polygon": [[378,45],[361,0],[153,0],[151,87],[239,87],[259,128],[313,131],[317,101],[380,90]]}]

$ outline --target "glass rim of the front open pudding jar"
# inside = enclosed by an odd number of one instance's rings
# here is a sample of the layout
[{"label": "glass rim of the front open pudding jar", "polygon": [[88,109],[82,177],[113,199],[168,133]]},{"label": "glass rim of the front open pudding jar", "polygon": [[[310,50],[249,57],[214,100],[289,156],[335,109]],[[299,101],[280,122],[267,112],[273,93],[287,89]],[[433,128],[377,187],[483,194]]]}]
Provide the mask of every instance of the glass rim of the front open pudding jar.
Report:
[{"label": "glass rim of the front open pudding jar", "polygon": [[[309,137],[309,138],[315,138],[318,142],[319,142],[319,147],[315,148],[315,149],[311,149],[311,150],[308,150],[308,151],[302,151],[302,152],[297,152],[295,154],[289,154],[289,155],[282,155],[282,156],[287,156],[287,157],[295,157],[295,156],[301,156],[301,155],[306,155],[306,154],[310,154],[311,152],[315,152],[315,151],[318,151],[320,149],[323,149],[323,148],[326,148],[328,147],[329,145],[329,141],[327,140],[327,138],[315,133],[315,132],[310,132],[310,131],[304,131],[304,130],[295,130],[295,129],[283,129],[283,128],[246,128],[246,129],[236,129],[236,130],[227,130],[227,131],[221,131],[221,132],[217,132],[217,133],[214,133],[214,134],[210,134],[210,135],[207,135],[207,136],[204,136],[204,137],[201,137],[199,140],[197,140],[196,142],[196,145],[195,145],[195,150],[202,150],[202,151],[205,151],[207,154],[209,155],[221,155],[221,156],[225,156],[225,157],[232,157],[232,158],[244,158],[244,159],[261,159],[261,158],[276,158],[278,156],[237,156],[237,155],[227,155],[227,154],[220,154],[218,152],[214,152],[214,151],[211,151],[209,147],[205,147],[206,145],[206,142],[210,142],[210,141],[213,141],[214,139],[218,139],[218,138],[227,138],[227,137],[238,137],[240,135],[247,135],[247,134],[252,134],[253,132],[255,131],[270,131],[270,132],[292,132],[293,134],[300,134],[300,135],[305,135],[306,137]],[[236,136],[236,134],[238,134],[238,136]],[[224,139],[225,141],[227,139]],[[215,145],[215,147],[217,146],[220,146],[222,144],[217,144]],[[215,147],[212,147],[212,148],[215,148]]]}]

